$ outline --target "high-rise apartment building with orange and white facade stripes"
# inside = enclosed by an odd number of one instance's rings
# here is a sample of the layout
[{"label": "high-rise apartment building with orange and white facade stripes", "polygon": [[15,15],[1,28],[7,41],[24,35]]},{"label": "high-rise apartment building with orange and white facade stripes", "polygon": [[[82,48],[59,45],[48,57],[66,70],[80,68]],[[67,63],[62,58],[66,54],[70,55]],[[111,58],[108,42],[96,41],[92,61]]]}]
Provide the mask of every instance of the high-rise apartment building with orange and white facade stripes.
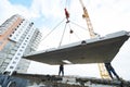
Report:
[{"label": "high-rise apartment building with orange and white facade stripes", "polygon": [[24,53],[36,51],[41,33],[32,22],[16,14],[0,26],[0,73],[26,72],[30,61]]}]

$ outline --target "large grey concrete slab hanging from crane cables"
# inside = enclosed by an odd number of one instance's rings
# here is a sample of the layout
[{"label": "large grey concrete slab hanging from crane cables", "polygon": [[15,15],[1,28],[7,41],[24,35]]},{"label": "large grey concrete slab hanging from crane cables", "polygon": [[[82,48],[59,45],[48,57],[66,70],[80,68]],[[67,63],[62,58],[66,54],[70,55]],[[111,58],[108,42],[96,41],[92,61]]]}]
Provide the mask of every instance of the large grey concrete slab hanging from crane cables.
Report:
[{"label": "large grey concrete slab hanging from crane cables", "polygon": [[25,54],[24,58],[53,65],[110,62],[128,38],[129,33],[121,30],[105,37],[62,46],[57,49],[31,52]]}]

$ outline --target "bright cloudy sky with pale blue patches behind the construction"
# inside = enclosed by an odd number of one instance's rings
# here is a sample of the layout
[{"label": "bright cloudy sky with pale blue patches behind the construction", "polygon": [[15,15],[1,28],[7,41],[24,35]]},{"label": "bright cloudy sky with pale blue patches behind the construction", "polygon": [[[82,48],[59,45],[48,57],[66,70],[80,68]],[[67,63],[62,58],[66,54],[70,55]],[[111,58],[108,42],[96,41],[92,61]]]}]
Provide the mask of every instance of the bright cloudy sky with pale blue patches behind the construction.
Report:
[{"label": "bright cloudy sky with pale blue patches behind the construction", "polygon": [[[119,30],[130,32],[130,0],[82,1],[95,33],[105,36]],[[38,50],[57,48],[66,24],[65,8],[70,14],[70,23],[66,25],[61,45],[89,39],[88,30],[77,26],[87,27],[86,21],[81,16],[82,8],[79,0],[0,0],[0,24],[12,15],[20,14],[34,22],[35,26],[43,34],[43,37],[57,26],[47,38],[42,38]],[[75,34],[69,34],[69,26]],[[120,77],[130,80],[129,51],[130,40],[125,42],[112,64]],[[57,75],[58,65],[31,62],[28,73]],[[65,65],[65,75],[100,77],[98,64]]]}]

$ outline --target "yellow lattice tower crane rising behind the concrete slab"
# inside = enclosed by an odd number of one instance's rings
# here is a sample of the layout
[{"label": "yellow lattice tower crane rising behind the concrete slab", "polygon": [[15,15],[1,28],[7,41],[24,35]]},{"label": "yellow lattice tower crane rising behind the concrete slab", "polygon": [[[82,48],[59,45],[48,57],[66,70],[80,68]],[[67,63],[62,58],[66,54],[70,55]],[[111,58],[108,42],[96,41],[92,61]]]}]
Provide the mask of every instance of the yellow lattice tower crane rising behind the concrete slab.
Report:
[{"label": "yellow lattice tower crane rising behind the concrete slab", "polygon": [[[90,38],[94,38],[96,37],[96,34],[94,33],[93,30],[93,27],[92,27],[92,23],[90,21],[90,17],[89,17],[89,14],[88,14],[88,11],[82,2],[82,0],[79,0],[80,3],[81,3],[81,7],[82,7],[82,10],[83,10],[83,14],[82,14],[82,17],[86,20],[87,22],[87,26],[88,26],[88,29],[89,29],[89,34],[90,34]],[[104,63],[99,63],[99,70],[100,70],[100,75],[102,78],[110,78],[109,75],[108,75],[108,72],[106,71],[105,69],[105,65]]]}]

